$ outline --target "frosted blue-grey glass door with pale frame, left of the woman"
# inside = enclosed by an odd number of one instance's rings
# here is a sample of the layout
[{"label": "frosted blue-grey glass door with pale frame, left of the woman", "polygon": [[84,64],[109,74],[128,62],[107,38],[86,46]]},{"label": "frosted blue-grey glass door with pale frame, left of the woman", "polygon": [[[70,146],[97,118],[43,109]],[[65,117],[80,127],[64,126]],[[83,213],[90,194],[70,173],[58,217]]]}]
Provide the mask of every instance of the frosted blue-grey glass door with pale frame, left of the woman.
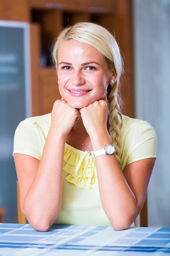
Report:
[{"label": "frosted blue-grey glass door with pale frame, left of the woman", "polygon": [[5,222],[17,221],[13,137],[30,115],[29,26],[0,20],[0,207]]}]

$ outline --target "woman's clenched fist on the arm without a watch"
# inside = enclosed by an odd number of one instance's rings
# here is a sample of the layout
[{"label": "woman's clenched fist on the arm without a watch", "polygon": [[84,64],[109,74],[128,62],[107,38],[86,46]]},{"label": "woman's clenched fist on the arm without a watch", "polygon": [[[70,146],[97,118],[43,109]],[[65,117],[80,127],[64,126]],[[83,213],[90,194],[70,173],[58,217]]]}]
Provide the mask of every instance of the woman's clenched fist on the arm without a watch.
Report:
[{"label": "woman's clenched fist on the arm without a watch", "polygon": [[69,107],[64,99],[55,101],[51,112],[51,127],[67,135],[79,118],[79,110]]}]

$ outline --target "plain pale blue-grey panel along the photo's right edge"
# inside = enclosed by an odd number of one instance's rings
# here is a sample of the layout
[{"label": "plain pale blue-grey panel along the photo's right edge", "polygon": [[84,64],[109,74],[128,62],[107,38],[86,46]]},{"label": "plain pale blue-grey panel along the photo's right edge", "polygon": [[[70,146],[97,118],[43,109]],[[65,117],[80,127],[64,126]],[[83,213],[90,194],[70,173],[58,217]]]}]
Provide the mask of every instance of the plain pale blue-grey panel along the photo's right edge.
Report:
[{"label": "plain pale blue-grey panel along the photo's right edge", "polygon": [[136,117],[157,132],[148,188],[150,226],[170,227],[170,0],[133,0]]}]

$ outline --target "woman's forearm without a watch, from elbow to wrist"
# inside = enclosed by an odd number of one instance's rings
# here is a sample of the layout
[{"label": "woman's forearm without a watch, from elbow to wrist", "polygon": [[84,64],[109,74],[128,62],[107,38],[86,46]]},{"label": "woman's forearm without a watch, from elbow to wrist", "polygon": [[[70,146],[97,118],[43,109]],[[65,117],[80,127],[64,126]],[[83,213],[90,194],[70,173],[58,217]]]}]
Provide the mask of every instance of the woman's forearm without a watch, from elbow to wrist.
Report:
[{"label": "woman's forearm without a watch, from elbow to wrist", "polygon": [[39,225],[48,229],[60,212],[64,144],[63,135],[49,131],[38,170],[24,198],[24,214],[35,229],[40,229]]}]

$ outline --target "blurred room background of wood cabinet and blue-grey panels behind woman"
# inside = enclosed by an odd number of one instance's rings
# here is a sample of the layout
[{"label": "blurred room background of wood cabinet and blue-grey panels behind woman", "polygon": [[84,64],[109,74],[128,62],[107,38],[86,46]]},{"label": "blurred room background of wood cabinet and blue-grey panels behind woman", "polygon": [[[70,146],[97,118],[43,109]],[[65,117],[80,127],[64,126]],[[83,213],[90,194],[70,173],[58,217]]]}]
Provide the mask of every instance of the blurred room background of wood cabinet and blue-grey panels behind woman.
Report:
[{"label": "blurred room background of wood cabinet and blue-grey panels behind woman", "polygon": [[51,112],[60,98],[51,47],[61,27],[98,22],[121,48],[124,114],[157,133],[148,187],[148,226],[170,227],[170,0],[0,0],[0,208],[18,222],[13,136],[26,117]]}]

